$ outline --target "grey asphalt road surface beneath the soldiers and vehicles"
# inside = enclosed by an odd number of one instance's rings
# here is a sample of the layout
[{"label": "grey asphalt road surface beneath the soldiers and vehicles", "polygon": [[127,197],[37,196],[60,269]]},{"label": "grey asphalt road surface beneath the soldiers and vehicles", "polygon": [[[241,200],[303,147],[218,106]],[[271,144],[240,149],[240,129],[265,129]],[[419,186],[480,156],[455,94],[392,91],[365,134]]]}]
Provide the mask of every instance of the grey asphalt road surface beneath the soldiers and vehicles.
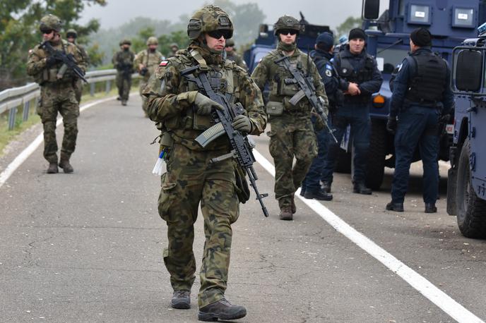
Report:
[{"label": "grey asphalt road surface beneath the soldiers and vehicles", "polygon": [[[83,111],[79,129],[75,173],[45,173],[40,147],[0,188],[0,321],[196,322],[198,279],[193,307],[170,308],[160,179],[151,173],[158,147],[149,145],[158,131],[138,95]],[[268,137],[255,139],[272,161]],[[423,213],[417,168],[404,213],[384,210],[391,170],[371,196],[353,194],[349,174],[336,174],[334,200],[322,204],[486,319],[486,243],[463,238],[446,214],[445,169],[439,212]],[[247,307],[239,322],[454,322],[301,200],[295,220],[280,221],[273,176],[255,169],[271,215],[250,200],[233,227],[226,296]],[[201,217],[194,249],[199,266]]]}]

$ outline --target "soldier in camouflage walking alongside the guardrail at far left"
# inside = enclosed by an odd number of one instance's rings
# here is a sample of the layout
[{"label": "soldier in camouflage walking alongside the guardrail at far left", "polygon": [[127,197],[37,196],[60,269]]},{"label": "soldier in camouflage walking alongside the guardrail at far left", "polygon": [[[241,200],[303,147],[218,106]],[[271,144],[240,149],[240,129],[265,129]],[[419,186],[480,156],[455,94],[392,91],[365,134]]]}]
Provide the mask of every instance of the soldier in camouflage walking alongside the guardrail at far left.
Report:
[{"label": "soldier in camouflage walking alongside the guardrail at far left", "polygon": [[[48,15],[40,20],[40,31],[45,41],[57,51],[72,54],[78,66],[85,70],[83,56],[75,45],[61,39],[61,20],[57,16]],[[59,167],[64,173],[72,173],[69,159],[76,147],[78,136],[79,104],[76,100],[74,87],[78,77],[57,57],[47,53],[37,45],[29,51],[27,73],[35,78],[41,87],[41,104],[37,110],[44,125],[44,157],[49,162],[47,173],[57,173],[57,113],[63,117],[64,138],[62,140]]]}]

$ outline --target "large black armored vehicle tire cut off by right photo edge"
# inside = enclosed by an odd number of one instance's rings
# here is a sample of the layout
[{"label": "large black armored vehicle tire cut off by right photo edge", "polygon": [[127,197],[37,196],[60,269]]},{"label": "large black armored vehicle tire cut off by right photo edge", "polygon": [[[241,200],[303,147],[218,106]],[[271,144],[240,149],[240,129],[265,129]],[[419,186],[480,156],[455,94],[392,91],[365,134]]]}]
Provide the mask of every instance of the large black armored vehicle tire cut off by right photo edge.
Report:
[{"label": "large black armored vehicle tire cut off by right photo edge", "polygon": [[464,142],[457,171],[457,224],[463,236],[486,238],[486,201],[476,195],[470,181],[470,145]]}]

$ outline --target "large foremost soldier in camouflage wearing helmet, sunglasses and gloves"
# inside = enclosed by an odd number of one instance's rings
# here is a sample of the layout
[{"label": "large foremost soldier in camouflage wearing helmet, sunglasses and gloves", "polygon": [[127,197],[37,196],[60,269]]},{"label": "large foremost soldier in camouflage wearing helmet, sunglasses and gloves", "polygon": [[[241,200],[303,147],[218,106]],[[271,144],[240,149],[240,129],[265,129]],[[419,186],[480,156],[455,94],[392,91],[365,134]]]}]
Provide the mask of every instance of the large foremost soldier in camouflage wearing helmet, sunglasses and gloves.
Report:
[{"label": "large foremost soldier in camouflage wearing helmet, sunglasses and gloves", "polygon": [[148,116],[162,128],[162,148],[168,149],[169,156],[167,172],[162,175],[158,211],[167,222],[169,245],[163,257],[174,288],[174,308],[190,306],[196,271],[192,250],[194,222],[201,202],[206,243],[199,273],[198,319],[203,321],[246,315],[244,307],[225,300],[231,224],[239,217],[239,187],[233,159],[211,162],[230,152],[225,135],[205,148],[194,141],[203,130],[214,125],[211,111],[223,106],[198,92],[198,87],[182,77],[181,71],[201,66],[215,91],[244,107],[245,113],[235,117],[233,127],[242,133],[262,133],[266,116],[259,88],[242,68],[223,59],[225,40],[232,37],[232,32],[230,18],[219,7],[205,6],[196,11],[187,28],[191,44],[162,61],[144,90],[148,97]]}]

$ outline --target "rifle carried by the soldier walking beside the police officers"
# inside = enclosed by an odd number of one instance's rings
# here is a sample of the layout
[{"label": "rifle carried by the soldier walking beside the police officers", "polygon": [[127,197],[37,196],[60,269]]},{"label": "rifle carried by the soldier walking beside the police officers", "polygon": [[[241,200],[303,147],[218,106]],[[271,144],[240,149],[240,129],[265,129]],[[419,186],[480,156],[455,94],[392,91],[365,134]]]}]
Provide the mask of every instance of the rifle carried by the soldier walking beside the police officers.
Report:
[{"label": "rifle carried by the soldier walking beside the police officers", "polygon": [[[297,70],[294,66],[290,64],[289,56],[280,57],[280,59],[275,60],[275,64],[283,64],[283,67],[289,71],[294,78],[285,78],[285,84],[297,84],[300,87],[300,91],[297,92],[289,102],[292,105],[296,105],[303,97],[307,97],[309,103],[312,105],[317,114],[321,116],[322,121],[324,121],[324,127],[327,132],[333,137],[333,140],[338,143],[336,137],[334,137],[333,131],[329,128],[327,123],[327,116],[324,114],[324,104],[321,102],[320,98],[316,96],[316,87],[314,87],[314,80],[309,75],[309,54],[307,54],[307,75],[304,76],[302,71]],[[281,65],[280,65],[281,66]]]}]

